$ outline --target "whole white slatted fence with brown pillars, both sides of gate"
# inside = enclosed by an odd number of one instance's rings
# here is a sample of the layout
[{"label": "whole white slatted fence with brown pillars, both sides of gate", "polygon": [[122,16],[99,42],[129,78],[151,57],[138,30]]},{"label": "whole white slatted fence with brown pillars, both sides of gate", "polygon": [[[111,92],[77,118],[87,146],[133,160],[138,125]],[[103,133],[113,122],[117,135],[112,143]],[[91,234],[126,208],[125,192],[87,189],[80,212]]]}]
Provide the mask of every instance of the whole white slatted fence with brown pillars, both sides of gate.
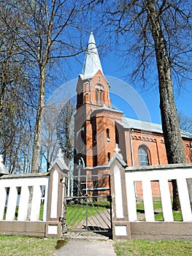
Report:
[{"label": "whole white slatted fence with brown pillars, both sides of gate", "polygon": [[[22,236],[59,236],[64,217],[67,175],[57,160],[50,173],[0,178],[0,233]],[[187,179],[192,165],[126,167],[120,157],[110,162],[113,238],[192,239],[192,213]],[[175,222],[169,181],[177,181],[183,222]],[[145,221],[137,215],[135,182],[142,183]],[[164,221],[155,221],[151,181],[159,183]],[[29,200],[33,188],[32,200]],[[45,192],[42,194],[42,188]],[[31,205],[29,202],[31,201]],[[43,207],[41,206],[43,202]],[[40,220],[40,209],[43,208]],[[28,212],[30,214],[28,214]],[[28,217],[29,215],[29,217]]]}]

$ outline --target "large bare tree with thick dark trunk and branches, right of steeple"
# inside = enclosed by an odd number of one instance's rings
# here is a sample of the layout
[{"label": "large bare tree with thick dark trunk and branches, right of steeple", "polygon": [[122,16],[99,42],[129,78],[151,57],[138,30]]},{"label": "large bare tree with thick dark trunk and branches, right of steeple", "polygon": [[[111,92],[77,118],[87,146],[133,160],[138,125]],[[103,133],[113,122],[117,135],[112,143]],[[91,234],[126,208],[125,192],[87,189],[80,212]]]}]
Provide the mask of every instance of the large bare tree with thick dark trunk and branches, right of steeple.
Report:
[{"label": "large bare tree with thick dark trunk and branches, right of steeple", "polygon": [[[191,71],[190,7],[190,1],[180,0],[110,1],[110,4],[106,2],[103,16],[111,31],[116,31],[118,37],[125,40],[121,45],[124,56],[136,61],[134,78],[139,75],[146,81],[147,75],[154,74],[156,64],[161,121],[169,164],[186,162],[173,81],[188,78]],[[173,75],[176,79],[173,79]],[[172,181],[172,185],[173,209],[177,210],[180,205],[176,181]],[[189,189],[190,186],[191,182],[188,181]]]}]

